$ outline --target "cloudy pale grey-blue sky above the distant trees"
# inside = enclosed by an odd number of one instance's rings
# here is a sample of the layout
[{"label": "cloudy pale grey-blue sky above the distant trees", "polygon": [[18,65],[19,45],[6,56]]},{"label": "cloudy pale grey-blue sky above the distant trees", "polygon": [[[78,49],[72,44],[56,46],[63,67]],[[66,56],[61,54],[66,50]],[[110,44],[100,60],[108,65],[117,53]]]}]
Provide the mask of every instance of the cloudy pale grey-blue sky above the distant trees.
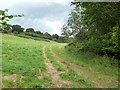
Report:
[{"label": "cloudy pale grey-blue sky above the distant trees", "polygon": [[0,9],[9,9],[8,14],[24,14],[8,23],[34,28],[35,31],[61,34],[63,24],[67,23],[72,9],[72,0],[0,0]]}]

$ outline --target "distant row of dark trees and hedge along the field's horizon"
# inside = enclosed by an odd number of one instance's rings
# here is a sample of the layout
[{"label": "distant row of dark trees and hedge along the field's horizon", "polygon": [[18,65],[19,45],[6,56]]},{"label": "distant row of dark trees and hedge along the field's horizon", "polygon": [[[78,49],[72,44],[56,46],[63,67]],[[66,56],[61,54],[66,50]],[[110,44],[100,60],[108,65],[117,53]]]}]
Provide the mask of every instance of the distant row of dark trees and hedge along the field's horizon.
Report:
[{"label": "distant row of dark trees and hedge along the field's horizon", "polygon": [[13,33],[21,37],[26,37],[27,35],[36,38],[53,40],[59,43],[66,43],[69,41],[67,37],[59,36],[57,34],[50,35],[48,32],[42,33],[41,31],[35,31],[33,28],[27,28],[25,31],[24,30],[25,29],[20,25],[10,25],[10,24],[6,24],[5,27],[1,29],[2,33]]}]

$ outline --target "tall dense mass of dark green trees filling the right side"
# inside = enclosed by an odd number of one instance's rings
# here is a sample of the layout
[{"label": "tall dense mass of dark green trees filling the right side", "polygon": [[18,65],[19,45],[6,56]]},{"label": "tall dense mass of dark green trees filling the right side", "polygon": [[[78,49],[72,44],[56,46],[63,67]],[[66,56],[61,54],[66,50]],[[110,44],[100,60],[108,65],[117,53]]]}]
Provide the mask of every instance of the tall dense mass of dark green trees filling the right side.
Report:
[{"label": "tall dense mass of dark green trees filling the right side", "polygon": [[72,52],[93,52],[120,59],[120,2],[71,2],[74,9],[63,26],[74,40]]}]

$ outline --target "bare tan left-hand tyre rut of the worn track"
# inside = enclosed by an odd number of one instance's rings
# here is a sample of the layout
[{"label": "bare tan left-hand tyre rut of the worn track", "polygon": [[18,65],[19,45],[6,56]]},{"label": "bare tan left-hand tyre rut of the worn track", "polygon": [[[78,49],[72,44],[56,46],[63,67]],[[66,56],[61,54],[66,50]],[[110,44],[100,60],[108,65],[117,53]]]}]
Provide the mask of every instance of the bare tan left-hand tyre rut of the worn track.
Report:
[{"label": "bare tan left-hand tyre rut of the worn track", "polygon": [[49,59],[47,58],[45,54],[45,46],[43,47],[43,57],[45,59],[45,64],[47,66],[47,72],[50,73],[50,75],[52,76],[52,83],[57,87],[62,87],[63,84],[70,84],[70,82],[66,80],[62,80],[60,78],[59,74],[64,73],[64,72],[57,71],[53,67],[53,65],[51,64],[51,62],[49,61]]}]

